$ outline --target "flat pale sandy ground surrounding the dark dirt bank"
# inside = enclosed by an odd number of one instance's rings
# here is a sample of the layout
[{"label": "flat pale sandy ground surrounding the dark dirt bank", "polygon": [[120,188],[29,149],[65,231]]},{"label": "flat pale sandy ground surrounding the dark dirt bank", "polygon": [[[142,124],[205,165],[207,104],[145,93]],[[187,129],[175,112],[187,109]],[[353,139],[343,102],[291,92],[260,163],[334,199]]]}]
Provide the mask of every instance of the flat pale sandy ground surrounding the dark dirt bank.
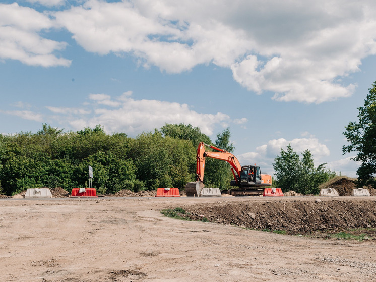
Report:
[{"label": "flat pale sandy ground surrounding the dark dirt bank", "polygon": [[219,201],[2,199],[0,281],[376,281],[374,240],[309,239],[159,212]]}]

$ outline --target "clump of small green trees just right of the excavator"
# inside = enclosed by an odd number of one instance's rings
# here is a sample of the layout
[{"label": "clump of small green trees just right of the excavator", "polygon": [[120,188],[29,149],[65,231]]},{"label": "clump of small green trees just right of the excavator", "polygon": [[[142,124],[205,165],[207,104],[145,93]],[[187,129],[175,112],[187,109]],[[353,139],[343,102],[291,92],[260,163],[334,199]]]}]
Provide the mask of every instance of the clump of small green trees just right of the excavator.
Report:
[{"label": "clump of small green trees just right of the excavator", "polygon": [[336,175],[335,172],[326,170],[325,164],[315,167],[309,150],[305,150],[300,159],[290,143],[286,151],[281,149],[280,156],[274,159],[273,167],[277,178],[275,186],[282,188],[284,192],[293,190],[302,194],[318,194],[319,185]]}]

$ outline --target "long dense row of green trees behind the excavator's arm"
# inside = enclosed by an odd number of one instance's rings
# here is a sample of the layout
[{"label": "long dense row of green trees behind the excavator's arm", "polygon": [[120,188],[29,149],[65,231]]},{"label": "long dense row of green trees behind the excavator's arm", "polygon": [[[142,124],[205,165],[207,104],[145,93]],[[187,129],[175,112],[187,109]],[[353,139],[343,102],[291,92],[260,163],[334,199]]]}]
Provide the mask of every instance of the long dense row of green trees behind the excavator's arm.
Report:
[{"label": "long dense row of green trees behind the excavator's arm", "polygon": [[[198,127],[184,124],[166,124],[136,138],[125,133],[106,134],[100,125],[64,132],[43,124],[37,133],[0,135],[0,193],[88,187],[89,165],[93,167],[93,187],[101,194],[122,189],[182,189],[196,179],[199,142],[231,149],[229,138],[229,128],[213,143]],[[207,162],[206,172],[207,187],[224,189],[232,176],[226,163],[213,159]]]}]

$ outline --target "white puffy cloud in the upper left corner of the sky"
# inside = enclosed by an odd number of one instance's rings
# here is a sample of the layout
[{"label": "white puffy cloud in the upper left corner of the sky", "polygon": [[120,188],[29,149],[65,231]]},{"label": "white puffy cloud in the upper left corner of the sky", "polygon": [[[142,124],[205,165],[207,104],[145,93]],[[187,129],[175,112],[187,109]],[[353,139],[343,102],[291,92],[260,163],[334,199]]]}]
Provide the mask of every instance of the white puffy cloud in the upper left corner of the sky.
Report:
[{"label": "white puffy cloud in the upper left corner of the sky", "polygon": [[54,23],[43,13],[17,3],[0,4],[0,58],[32,66],[69,66],[70,60],[54,54],[67,44],[39,35],[52,27]]}]

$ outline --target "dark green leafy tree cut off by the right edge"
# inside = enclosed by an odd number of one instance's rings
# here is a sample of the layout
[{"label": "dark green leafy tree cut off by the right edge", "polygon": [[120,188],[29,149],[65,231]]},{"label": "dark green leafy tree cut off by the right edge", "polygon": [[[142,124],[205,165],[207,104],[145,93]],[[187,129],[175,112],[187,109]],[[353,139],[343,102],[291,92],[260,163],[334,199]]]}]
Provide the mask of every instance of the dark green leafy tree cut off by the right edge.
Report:
[{"label": "dark green leafy tree cut off by the right edge", "polygon": [[357,170],[360,184],[375,184],[376,174],[376,81],[369,88],[364,106],[359,107],[359,122],[350,122],[343,133],[350,143],[342,147],[343,153],[357,152],[355,161],[362,164]]}]

